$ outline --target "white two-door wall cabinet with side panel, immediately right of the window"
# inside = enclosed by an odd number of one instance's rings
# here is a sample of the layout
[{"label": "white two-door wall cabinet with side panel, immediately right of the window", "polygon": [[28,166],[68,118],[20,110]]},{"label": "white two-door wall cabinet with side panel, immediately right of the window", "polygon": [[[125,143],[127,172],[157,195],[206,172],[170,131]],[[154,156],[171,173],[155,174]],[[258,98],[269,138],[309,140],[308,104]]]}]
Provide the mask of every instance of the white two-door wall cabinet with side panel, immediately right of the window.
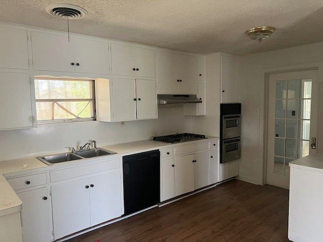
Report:
[{"label": "white two-door wall cabinet with side panel, immediately right of the window", "polygon": [[143,79],[96,79],[97,120],[157,118],[156,82]]}]

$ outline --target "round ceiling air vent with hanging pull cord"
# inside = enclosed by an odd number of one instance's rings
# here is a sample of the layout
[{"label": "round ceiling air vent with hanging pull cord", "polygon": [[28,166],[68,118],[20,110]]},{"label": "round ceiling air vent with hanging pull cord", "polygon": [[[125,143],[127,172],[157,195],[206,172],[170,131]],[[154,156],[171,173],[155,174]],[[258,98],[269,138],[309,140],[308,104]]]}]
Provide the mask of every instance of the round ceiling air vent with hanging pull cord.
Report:
[{"label": "round ceiling air vent with hanging pull cord", "polygon": [[87,15],[87,11],[72,4],[52,4],[45,8],[50,15],[64,19],[82,19]]}]

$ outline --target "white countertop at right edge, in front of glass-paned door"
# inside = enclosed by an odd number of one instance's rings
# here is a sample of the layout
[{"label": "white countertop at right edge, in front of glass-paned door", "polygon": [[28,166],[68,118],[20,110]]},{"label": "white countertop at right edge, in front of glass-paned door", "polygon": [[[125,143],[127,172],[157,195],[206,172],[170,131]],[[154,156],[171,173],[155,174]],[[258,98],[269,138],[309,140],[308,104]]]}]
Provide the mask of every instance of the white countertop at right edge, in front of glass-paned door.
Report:
[{"label": "white countertop at right edge, in front of glass-paned door", "polygon": [[289,162],[289,166],[323,173],[323,154],[310,154]]}]

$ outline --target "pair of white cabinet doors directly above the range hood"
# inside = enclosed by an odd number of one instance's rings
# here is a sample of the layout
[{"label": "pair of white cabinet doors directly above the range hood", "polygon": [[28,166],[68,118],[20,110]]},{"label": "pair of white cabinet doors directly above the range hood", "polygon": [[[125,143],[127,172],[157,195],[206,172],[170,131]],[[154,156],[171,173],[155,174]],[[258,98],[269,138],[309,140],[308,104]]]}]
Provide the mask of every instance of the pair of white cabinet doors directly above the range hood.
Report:
[{"label": "pair of white cabinet doors directly above the range hood", "polygon": [[198,57],[157,51],[158,93],[196,94]]}]

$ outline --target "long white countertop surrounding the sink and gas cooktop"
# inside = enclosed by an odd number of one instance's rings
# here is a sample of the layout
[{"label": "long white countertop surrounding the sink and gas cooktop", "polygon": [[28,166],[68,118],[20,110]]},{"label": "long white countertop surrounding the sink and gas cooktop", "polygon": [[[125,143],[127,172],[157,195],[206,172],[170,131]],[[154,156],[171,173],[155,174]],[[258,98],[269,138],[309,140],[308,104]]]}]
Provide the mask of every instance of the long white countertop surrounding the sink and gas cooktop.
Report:
[{"label": "long white countertop surrounding the sink and gas cooktop", "polygon": [[[217,137],[207,137],[207,138],[212,139]],[[185,143],[192,144],[193,142],[207,141],[208,139],[190,141]],[[183,145],[185,143],[177,143],[175,145]],[[131,143],[117,144],[117,145],[99,146],[99,147],[117,152],[118,154],[131,154],[131,153],[136,153],[136,151],[144,152],[152,149],[159,149],[163,147],[166,148],[167,146],[170,146],[170,145],[171,144],[169,143],[144,140],[144,141],[137,141],[137,142],[131,142]],[[56,164],[56,165],[60,165],[60,164]],[[0,216],[15,213],[22,209],[21,200],[14,192],[14,190],[10,187],[9,183],[7,182],[3,174],[25,171],[30,169],[37,169],[37,168],[46,168],[46,167],[49,167],[49,166],[44,164],[43,162],[41,162],[35,157],[26,157],[22,159],[0,162]]]}]

